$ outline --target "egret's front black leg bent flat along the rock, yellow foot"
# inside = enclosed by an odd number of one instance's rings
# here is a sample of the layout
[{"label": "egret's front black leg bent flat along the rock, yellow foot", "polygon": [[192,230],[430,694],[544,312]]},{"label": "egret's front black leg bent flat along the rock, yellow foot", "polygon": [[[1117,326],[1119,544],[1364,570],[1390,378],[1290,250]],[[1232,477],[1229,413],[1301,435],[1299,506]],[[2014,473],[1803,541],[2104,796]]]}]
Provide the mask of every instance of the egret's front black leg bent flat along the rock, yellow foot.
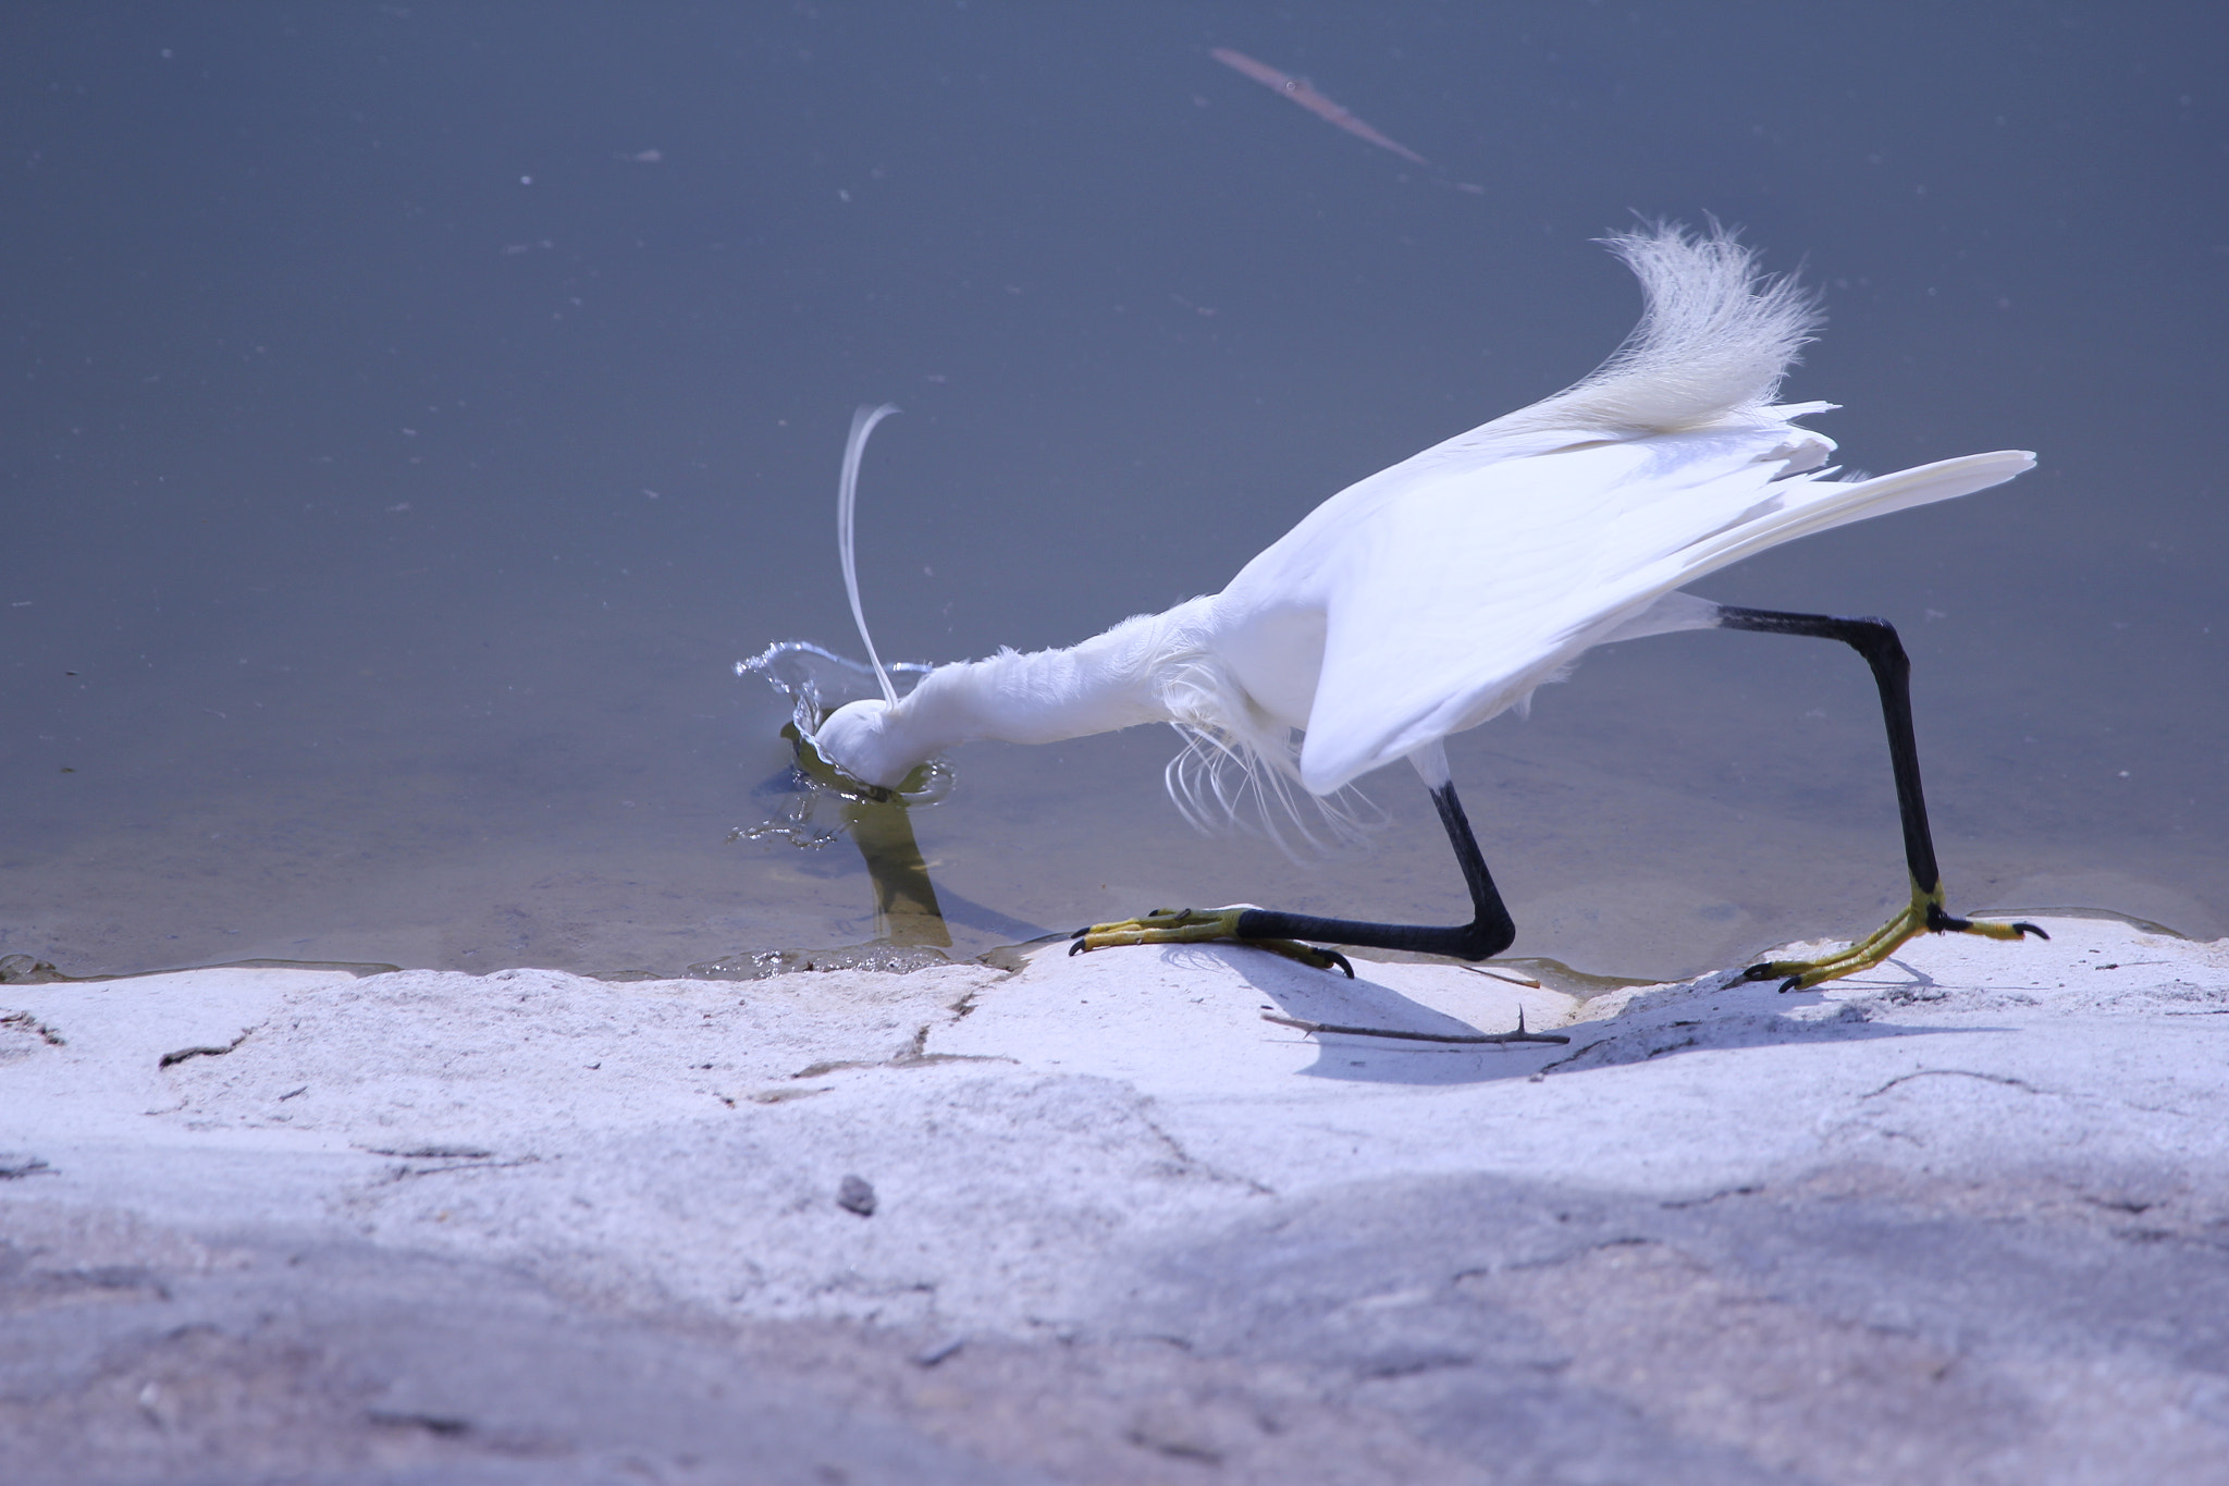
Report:
[{"label": "egret's front black leg bent flat along the rock, yellow foot", "polygon": [[1237,940],[1271,949],[1302,965],[1320,969],[1340,967],[1349,976],[1355,967],[1346,956],[1328,949],[1313,949],[1300,940],[1322,940],[1328,945],[1353,945],[1357,949],[1413,949],[1418,954],[1444,954],[1458,960],[1485,960],[1518,936],[1502,896],[1487,871],[1487,858],[1478,851],[1478,838],[1462,813],[1453,784],[1438,784],[1431,802],[1447,827],[1447,840],[1456,847],[1462,864],[1462,882],[1471,889],[1471,922],[1458,927],[1431,925],[1371,925],[1353,918],[1315,918],[1313,913],[1279,913],[1277,909],[1230,907],[1230,909],[1155,909],[1139,918],[1112,925],[1077,929],[1068,954],[1086,949],[1108,949],[1114,945],[1197,945],[1204,940]]}]

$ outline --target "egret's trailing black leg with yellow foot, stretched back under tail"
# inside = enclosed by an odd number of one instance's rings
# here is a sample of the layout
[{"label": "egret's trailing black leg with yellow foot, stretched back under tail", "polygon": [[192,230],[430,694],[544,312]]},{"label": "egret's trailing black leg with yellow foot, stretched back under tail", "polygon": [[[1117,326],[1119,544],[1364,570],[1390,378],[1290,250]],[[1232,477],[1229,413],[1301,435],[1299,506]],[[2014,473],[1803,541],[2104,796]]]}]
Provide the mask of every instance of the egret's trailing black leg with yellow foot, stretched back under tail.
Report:
[{"label": "egret's trailing black leg with yellow foot, stretched back under tail", "polygon": [[1917,933],[1979,933],[2017,940],[2028,933],[2051,938],[2028,922],[1986,922],[1957,918],[1944,909],[1941,871],[1935,864],[1935,833],[1928,829],[1928,802],[1919,789],[1919,744],[1912,740],[1912,662],[1888,619],[1841,619],[1832,615],[1788,615],[1772,608],[1719,608],[1719,628],[1756,630],[1759,635],[1808,635],[1839,639],[1872,666],[1872,684],[1881,693],[1881,720],[1888,724],[1888,764],[1897,778],[1897,815],[1904,822],[1904,864],[1912,878],[1912,900],[1886,925],[1817,960],[1768,960],[1741,974],[1743,980],[1779,980],[1783,991],[1805,989],[1861,969],[1872,969]]}]

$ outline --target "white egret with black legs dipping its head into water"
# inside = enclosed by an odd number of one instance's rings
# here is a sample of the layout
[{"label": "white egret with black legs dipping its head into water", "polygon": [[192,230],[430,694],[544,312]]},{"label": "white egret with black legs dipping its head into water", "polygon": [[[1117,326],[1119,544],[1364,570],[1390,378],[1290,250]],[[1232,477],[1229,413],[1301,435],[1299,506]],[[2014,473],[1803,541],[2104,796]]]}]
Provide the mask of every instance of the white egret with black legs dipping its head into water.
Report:
[{"label": "white egret with black legs dipping its head into water", "polygon": [[[1904,818],[1912,898],[1888,925],[1817,960],[1748,978],[1808,987],[1879,965],[1921,931],[2042,936],[1944,909],[1919,791],[1908,662],[1886,619],[1732,608],[1685,584],[1781,541],[2006,481],[2019,450],[1837,479],[1834,443],[1774,403],[1817,305],[1768,278],[1730,234],[1658,225],[1607,241],[1645,312],[1594,374],[1547,401],[1349,486],[1246,564],[1221,593],[1126,619],[1063,651],[936,666],[905,697],[831,713],[814,749],[872,786],[974,740],[1057,742],[1141,722],[1184,729],[1275,798],[1328,798],[1409,760],[1462,862],[1473,920],[1373,925],[1257,907],[1155,911],[1079,931],[1077,949],[1233,938],[1342,965],[1295,940],[1480,960],[1516,936],[1478,851],[1442,740],[1522,706],[1587,648],[1694,628],[1839,639],[1872,666]],[[865,414],[865,410],[863,410]],[[847,486],[874,426],[854,423]],[[847,490],[849,497],[849,490]],[[1195,753],[1197,757],[1197,753]],[[1179,760],[1181,764],[1181,760]],[[1206,784],[1201,784],[1206,778]],[[1230,804],[1215,771],[1170,769],[1188,813]],[[1349,967],[1349,974],[1351,967]]]}]

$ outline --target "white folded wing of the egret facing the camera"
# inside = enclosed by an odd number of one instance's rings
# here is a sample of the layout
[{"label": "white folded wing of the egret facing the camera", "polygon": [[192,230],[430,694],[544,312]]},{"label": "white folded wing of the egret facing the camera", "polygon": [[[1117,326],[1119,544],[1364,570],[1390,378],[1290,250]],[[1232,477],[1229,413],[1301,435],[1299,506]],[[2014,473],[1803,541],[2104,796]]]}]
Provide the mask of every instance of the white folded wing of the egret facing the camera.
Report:
[{"label": "white folded wing of the egret facing the camera", "polygon": [[1328,793],[1478,726],[1705,573],[2033,463],[2015,450],[1832,481],[1814,472],[1830,448],[1748,423],[1418,470],[1378,492],[1326,581],[1302,782]]}]

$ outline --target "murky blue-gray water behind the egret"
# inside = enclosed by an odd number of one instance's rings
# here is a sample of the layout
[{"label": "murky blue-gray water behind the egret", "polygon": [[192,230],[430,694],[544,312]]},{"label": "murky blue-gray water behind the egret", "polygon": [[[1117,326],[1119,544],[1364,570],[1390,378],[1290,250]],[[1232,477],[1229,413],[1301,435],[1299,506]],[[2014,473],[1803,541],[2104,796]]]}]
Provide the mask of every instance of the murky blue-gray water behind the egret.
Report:
[{"label": "murky blue-gray water behind the egret", "polygon": [[[2013,486],[1716,599],[1881,613],[1953,907],[2229,933],[2218,7],[13,4],[0,954],[680,969],[874,931],[729,842],[856,651],[1068,644],[1594,365],[1589,238],[1743,225],[1852,466]],[[1447,176],[1217,65],[1306,76]],[[1482,192],[1449,189],[1447,180]],[[961,947],[1164,902],[1456,916],[1199,840],[1166,733],[979,746],[916,831]],[[1672,974],[1904,896],[1859,662],[1678,635],[1453,749],[1516,954]],[[2017,954],[2008,947],[2006,954]]]}]

